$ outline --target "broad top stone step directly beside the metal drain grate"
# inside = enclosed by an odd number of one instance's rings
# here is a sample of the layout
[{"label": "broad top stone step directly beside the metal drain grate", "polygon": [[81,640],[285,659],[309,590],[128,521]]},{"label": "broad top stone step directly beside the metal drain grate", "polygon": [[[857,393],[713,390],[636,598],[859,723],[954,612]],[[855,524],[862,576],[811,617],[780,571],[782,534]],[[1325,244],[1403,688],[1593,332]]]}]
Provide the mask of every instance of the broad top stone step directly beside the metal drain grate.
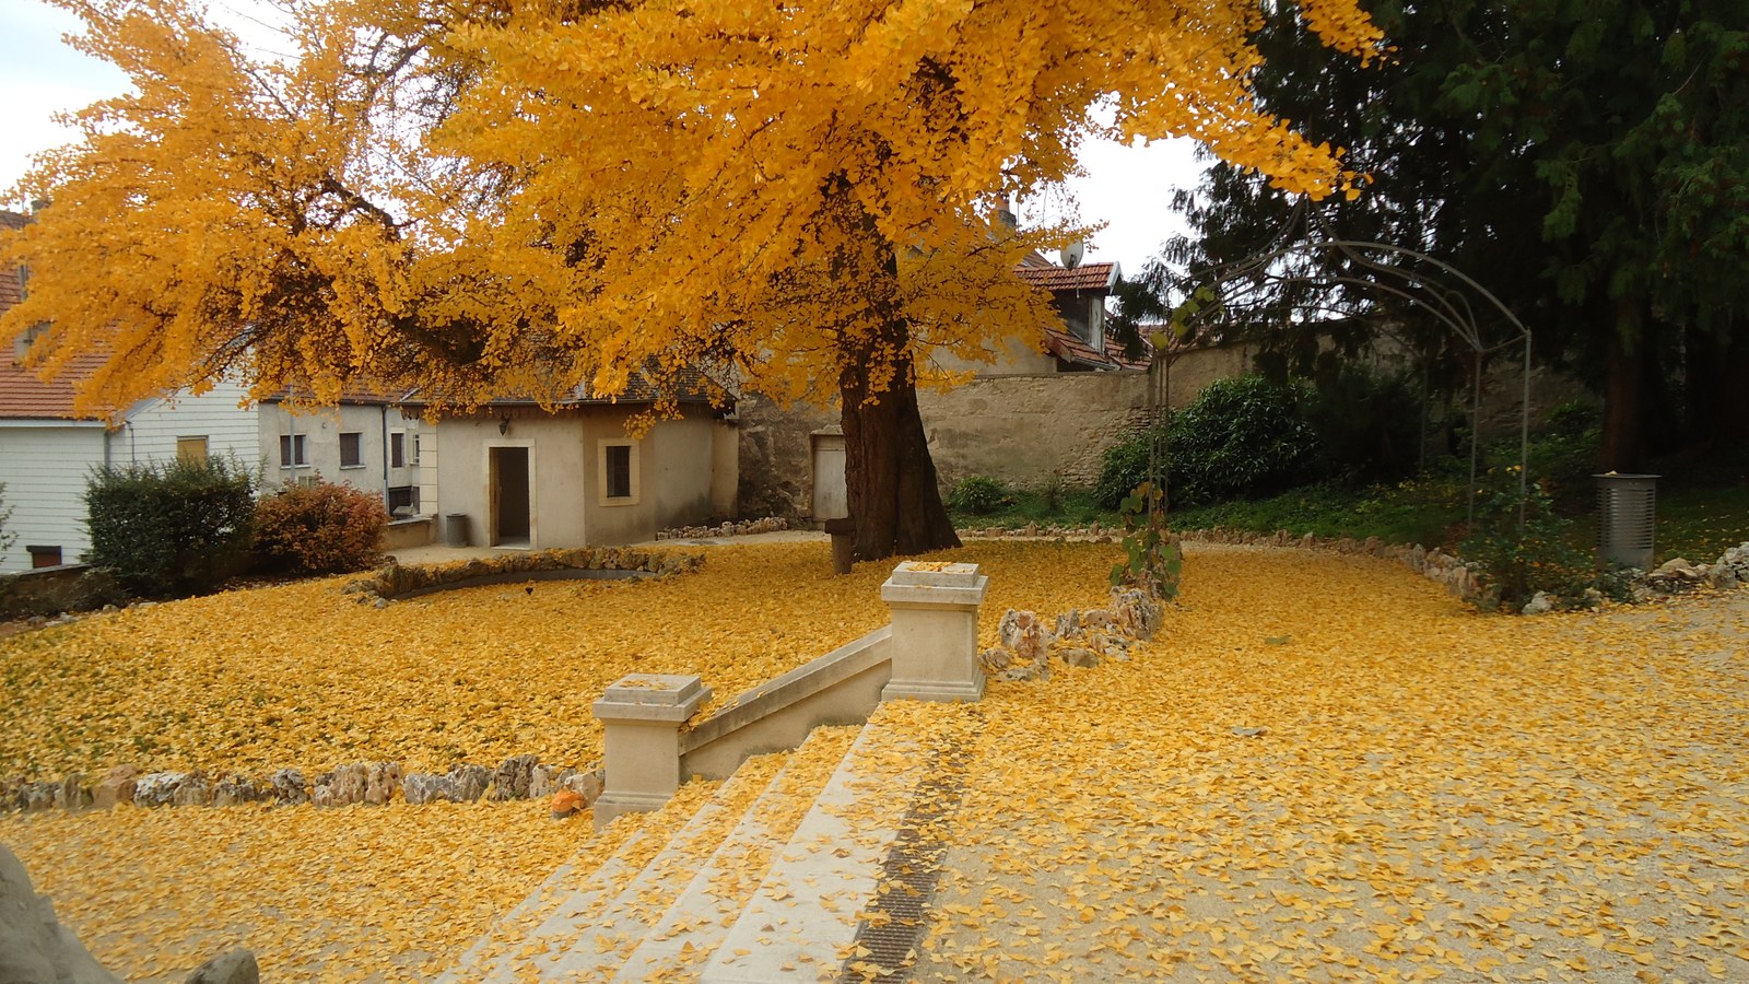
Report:
[{"label": "broad top stone step directly beside the metal drain grate", "polygon": [[700,980],[838,979],[927,763],[922,739],[876,714],[777,851]]}]

